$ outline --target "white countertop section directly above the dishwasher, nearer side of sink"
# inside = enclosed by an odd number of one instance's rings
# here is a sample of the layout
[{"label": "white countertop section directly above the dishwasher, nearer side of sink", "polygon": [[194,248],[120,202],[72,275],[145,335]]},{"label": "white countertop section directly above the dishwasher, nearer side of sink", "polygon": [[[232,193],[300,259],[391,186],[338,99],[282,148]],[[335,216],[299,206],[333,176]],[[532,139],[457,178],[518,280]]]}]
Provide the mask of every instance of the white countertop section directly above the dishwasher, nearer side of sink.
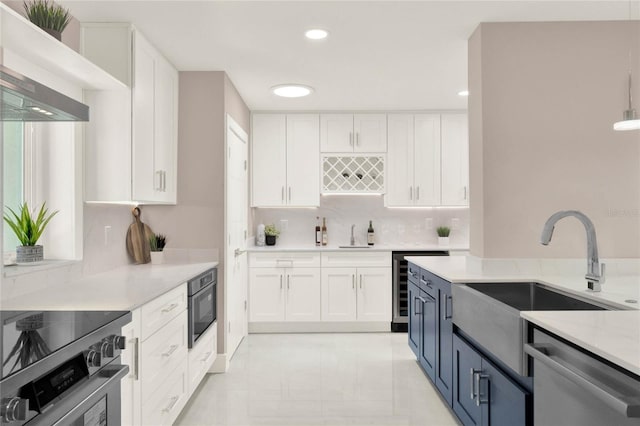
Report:
[{"label": "white countertop section directly above the dishwasher, nearer side of sink", "polygon": [[640,375],[640,311],[529,311],[520,316]]}]

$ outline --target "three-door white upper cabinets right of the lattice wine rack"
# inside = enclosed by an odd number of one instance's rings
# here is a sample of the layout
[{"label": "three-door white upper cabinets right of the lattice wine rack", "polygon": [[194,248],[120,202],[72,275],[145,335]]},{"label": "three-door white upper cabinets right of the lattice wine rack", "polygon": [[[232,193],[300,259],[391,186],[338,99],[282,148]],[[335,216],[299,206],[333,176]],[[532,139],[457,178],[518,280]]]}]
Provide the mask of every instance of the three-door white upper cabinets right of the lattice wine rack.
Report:
[{"label": "three-door white upper cabinets right of the lattice wine rack", "polygon": [[468,205],[466,117],[389,114],[387,206]]}]

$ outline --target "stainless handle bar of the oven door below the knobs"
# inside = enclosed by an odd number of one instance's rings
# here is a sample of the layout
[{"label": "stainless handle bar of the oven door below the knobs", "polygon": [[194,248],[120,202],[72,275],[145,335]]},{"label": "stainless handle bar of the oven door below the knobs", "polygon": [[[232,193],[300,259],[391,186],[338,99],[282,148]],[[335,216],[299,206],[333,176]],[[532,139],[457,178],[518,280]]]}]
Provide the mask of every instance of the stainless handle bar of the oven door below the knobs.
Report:
[{"label": "stainless handle bar of the oven door below the knobs", "polygon": [[[67,395],[67,397],[54,404],[44,414],[36,417],[36,419],[40,421],[40,417],[46,416],[47,419],[50,419],[49,421],[53,426],[62,426],[72,423],[79,416],[82,416],[89,408],[100,401],[100,399],[107,394],[109,387],[115,385],[119,390],[119,382],[127,375],[128,372],[129,367],[126,365],[107,365],[102,370],[91,376],[89,380],[78,387],[78,389],[75,389],[71,394]],[[79,399],[80,401],[78,401]],[[119,404],[120,401],[107,401],[107,404],[113,403]]]}]

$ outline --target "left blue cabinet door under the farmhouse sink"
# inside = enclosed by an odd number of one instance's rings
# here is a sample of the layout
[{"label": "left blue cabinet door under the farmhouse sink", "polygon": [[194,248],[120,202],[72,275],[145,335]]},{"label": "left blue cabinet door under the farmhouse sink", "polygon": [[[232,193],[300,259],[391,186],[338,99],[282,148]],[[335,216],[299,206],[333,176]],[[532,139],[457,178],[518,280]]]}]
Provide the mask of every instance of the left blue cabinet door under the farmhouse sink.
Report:
[{"label": "left blue cabinet door under the farmhouse sink", "polygon": [[482,370],[482,357],[467,342],[453,336],[453,412],[465,426],[482,424],[475,378]]}]

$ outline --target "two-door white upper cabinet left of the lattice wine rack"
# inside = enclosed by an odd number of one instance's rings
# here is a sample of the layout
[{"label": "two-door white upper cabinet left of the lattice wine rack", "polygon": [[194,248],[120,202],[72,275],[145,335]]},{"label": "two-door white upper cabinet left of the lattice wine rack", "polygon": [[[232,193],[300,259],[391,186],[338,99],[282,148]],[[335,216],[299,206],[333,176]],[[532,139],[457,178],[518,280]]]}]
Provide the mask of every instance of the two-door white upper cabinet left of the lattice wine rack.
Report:
[{"label": "two-door white upper cabinet left of the lattice wine rack", "polygon": [[253,207],[320,205],[318,114],[254,114]]}]

